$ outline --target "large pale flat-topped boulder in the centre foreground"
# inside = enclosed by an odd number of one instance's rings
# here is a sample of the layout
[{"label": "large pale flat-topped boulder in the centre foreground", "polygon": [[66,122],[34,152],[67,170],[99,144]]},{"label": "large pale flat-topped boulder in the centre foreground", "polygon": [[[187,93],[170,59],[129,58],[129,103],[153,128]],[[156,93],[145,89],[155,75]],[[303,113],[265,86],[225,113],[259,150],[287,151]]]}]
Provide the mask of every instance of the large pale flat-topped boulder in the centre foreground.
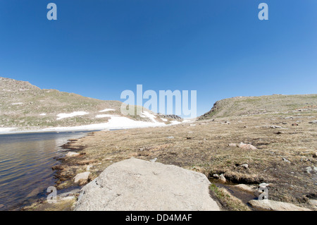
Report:
[{"label": "large pale flat-topped boulder in the centre foreground", "polygon": [[82,188],[75,210],[220,210],[204,174],[127,159]]}]

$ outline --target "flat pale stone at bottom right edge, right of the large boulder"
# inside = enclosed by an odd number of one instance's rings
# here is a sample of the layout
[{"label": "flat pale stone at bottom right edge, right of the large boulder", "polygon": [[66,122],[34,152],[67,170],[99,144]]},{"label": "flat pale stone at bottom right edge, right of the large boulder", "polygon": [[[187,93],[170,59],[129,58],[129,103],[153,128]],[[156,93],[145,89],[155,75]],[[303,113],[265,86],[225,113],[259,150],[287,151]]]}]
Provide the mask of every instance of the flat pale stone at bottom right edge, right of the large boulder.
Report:
[{"label": "flat pale stone at bottom right edge, right of the large boulder", "polygon": [[287,202],[277,202],[273,200],[251,200],[248,202],[251,207],[273,211],[311,211],[304,207],[299,207]]}]

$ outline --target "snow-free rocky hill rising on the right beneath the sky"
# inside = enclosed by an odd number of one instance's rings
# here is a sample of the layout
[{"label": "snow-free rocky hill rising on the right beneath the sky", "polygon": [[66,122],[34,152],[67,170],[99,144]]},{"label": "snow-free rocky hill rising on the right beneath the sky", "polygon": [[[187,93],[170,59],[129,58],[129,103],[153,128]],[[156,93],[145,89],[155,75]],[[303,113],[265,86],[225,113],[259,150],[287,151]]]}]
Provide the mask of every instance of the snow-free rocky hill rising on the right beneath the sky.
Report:
[{"label": "snow-free rocky hill rising on the right beneath the sky", "polygon": [[198,119],[254,114],[278,114],[287,111],[317,111],[317,95],[268,95],[222,99]]}]

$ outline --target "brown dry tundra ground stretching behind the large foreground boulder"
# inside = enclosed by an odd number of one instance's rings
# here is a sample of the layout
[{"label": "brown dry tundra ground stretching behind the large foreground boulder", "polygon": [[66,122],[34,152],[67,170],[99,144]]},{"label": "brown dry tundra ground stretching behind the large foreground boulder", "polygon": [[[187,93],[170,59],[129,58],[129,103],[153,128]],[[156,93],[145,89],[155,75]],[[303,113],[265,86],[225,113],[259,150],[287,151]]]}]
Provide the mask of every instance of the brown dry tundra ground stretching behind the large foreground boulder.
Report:
[{"label": "brown dry tundra ground stretching behind the large foreground boulder", "polygon": [[[74,186],[76,174],[90,168],[90,180],[107,166],[135,157],[173,164],[213,176],[224,174],[234,183],[269,183],[269,199],[309,207],[316,199],[317,177],[307,166],[317,166],[317,124],[314,111],[216,118],[159,128],[100,131],[72,140],[65,147],[80,152],[63,158],[56,186]],[[270,126],[280,126],[272,128]],[[257,150],[230,147],[251,143]],[[287,160],[285,160],[287,159]],[[240,166],[248,164],[248,169]],[[313,168],[313,167],[312,167]]]}]

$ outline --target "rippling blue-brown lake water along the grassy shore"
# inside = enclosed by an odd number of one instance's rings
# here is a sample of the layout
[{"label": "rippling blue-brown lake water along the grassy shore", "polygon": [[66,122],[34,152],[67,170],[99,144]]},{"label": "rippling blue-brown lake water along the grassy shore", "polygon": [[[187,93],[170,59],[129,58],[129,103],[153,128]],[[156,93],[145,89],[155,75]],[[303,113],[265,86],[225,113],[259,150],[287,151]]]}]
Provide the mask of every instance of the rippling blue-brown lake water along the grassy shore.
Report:
[{"label": "rippling blue-brown lake water along the grassy shore", "polygon": [[89,131],[0,135],[0,210],[19,209],[44,197],[56,181],[52,166],[61,145]]}]

